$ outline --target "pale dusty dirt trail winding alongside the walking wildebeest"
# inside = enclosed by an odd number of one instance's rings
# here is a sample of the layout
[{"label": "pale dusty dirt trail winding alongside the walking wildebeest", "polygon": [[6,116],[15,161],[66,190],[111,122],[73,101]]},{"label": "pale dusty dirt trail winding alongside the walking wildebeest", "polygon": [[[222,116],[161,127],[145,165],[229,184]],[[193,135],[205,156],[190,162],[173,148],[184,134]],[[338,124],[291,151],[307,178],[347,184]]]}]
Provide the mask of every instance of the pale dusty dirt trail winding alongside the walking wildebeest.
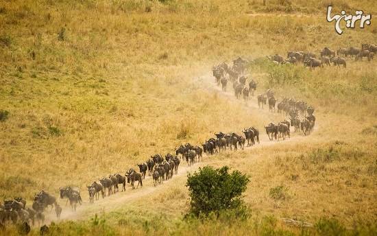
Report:
[{"label": "pale dusty dirt trail winding alongside the walking wildebeest", "polygon": [[[221,93],[221,95],[228,97],[230,102],[244,104],[245,109],[250,110],[250,112],[252,113],[256,113],[256,111],[258,111],[258,117],[261,117],[265,121],[265,123],[269,122],[270,120],[278,121],[284,119],[284,117],[281,114],[269,112],[268,106],[265,106],[264,109],[258,108],[258,104],[256,102],[256,95],[254,95],[254,97],[251,97],[250,100],[247,101],[247,104],[245,104],[245,101],[243,101],[243,99],[236,99],[236,97],[234,97],[231,86],[228,86],[228,92],[224,93],[223,91],[221,91],[221,86],[217,86],[215,84],[215,81],[212,78],[212,76],[210,76],[210,74],[204,75],[200,78],[195,78],[195,80],[196,81],[194,82],[206,84],[210,91],[216,91]],[[318,126],[316,126],[315,129],[317,130]],[[302,133],[291,132],[291,139],[286,139],[285,141],[269,141],[267,135],[265,135],[263,130],[260,130],[260,144],[256,144],[252,147],[245,147],[245,150],[263,148],[270,145],[284,145],[284,143],[300,142],[302,140],[307,140],[310,138],[311,136],[305,137]],[[164,191],[164,189],[171,187],[175,178],[185,178],[188,172],[193,172],[197,170],[200,166],[209,165],[212,162],[214,161],[211,161],[209,158],[207,158],[205,154],[203,161],[201,163],[196,163],[191,167],[189,167],[185,161],[182,161],[180,167],[178,168],[178,174],[174,175],[171,180],[165,181],[162,185],[154,187],[151,176],[146,176],[145,180],[143,180],[143,187],[139,186],[138,189],[131,189],[130,185],[127,184],[125,191],[120,191],[119,193],[113,194],[111,196],[106,196],[106,198],[104,199],[96,200],[94,204],[90,204],[89,202],[87,202],[87,199],[85,199],[84,197],[83,204],[78,205],[77,211],[75,212],[73,212],[69,208],[69,206],[65,207],[65,200],[60,200],[60,204],[62,204],[63,208],[60,220],[84,220],[93,217],[95,213],[114,211],[124,206],[124,204],[128,204],[134,200],[138,200],[143,196],[149,196],[149,194],[151,193],[162,192]],[[55,212],[49,212],[47,210],[46,218],[46,223],[56,221]]]}]

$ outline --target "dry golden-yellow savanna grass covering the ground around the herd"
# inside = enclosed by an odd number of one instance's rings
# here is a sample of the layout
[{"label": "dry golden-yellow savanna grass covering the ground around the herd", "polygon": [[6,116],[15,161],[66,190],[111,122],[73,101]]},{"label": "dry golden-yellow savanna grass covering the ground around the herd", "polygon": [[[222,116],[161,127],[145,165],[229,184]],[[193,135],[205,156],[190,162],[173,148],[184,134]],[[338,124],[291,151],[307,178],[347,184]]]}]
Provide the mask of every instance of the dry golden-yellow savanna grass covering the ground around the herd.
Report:
[{"label": "dry golden-yellow savanna grass covering the ground around the herd", "polygon": [[[204,157],[250,175],[250,219],[182,220],[189,207],[182,175],[161,191],[99,211],[99,218],[60,222],[53,232],[372,235],[376,58],[315,70],[264,59],[291,49],[319,54],[323,47],[376,44],[373,18],[365,29],[336,34],[326,22],[330,3],[338,12],[377,12],[373,1],[341,0],[0,1],[0,199],[30,202],[40,189],[56,196],[64,185],[85,189],[180,143],[201,143],[219,130],[262,131],[284,119],[213,88],[212,65],[242,56],[252,61],[257,93],[274,88],[278,97],[304,99],[317,116],[310,137]],[[289,227],[281,217],[315,229]]]}]

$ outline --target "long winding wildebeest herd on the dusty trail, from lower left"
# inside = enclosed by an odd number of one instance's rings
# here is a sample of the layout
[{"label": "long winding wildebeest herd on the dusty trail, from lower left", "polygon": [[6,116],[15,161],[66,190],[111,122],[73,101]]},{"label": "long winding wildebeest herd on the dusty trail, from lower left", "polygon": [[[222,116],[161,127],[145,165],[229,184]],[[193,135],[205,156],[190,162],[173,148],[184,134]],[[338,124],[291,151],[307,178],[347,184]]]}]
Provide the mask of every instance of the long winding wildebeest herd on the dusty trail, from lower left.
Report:
[{"label": "long winding wildebeest herd on the dusty trail, from lower left", "polygon": [[[241,58],[233,61],[232,67],[228,66],[225,62],[212,68],[213,75],[217,84],[222,84],[223,91],[226,91],[226,84],[228,81],[233,83],[234,93],[237,98],[243,94],[245,100],[250,95],[254,96],[257,83],[254,80],[248,81],[243,75],[247,67],[247,62]],[[246,86],[248,84],[248,87]],[[264,104],[269,105],[271,112],[275,111],[276,102],[274,93],[268,89],[266,93],[257,96],[258,106],[263,108]],[[281,102],[277,104],[278,113],[289,115],[290,121],[285,119],[279,123],[269,123],[265,126],[265,131],[269,140],[285,139],[290,137],[291,126],[294,127],[295,132],[302,130],[305,135],[313,131],[315,125],[315,116],[313,115],[314,109],[307,106],[304,101],[295,101],[293,98],[284,97]],[[300,119],[300,116],[304,117]],[[244,149],[245,145],[252,146],[259,143],[259,130],[255,127],[244,128],[242,134],[235,132],[217,132],[215,137],[204,141],[202,145],[191,145],[186,143],[175,148],[175,155],[168,153],[165,156],[162,154],[154,154],[141,164],[137,164],[138,171],[131,168],[125,174],[110,174],[99,180],[95,180],[90,185],[87,185],[89,202],[95,202],[99,198],[105,198],[106,193],[108,196],[119,192],[119,185],[121,191],[125,191],[126,181],[130,183],[132,189],[135,189],[135,182],[138,182],[136,189],[140,185],[143,187],[143,180],[148,174],[154,182],[154,186],[162,184],[165,180],[169,180],[174,174],[178,174],[178,166],[181,161],[191,166],[195,162],[199,162],[203,154],[210,156],[225,150]],[[78,187],[61,187],[60,198],[66,198],[66,205],[70,204],[71,209],[76,211],[77,205],[82,204],[81,191]],[[21,222],[24,228],[30,228],[29,224],[42,225],[40,228],[41,233],[46,233],[48,227],[45,223],[45,211],[51,207],[55,208],[56,217],[59,219],[62,213],[62,207],[58,204],[55,196],[47,191],[40,191],[34,196],[31,207],[27,207],[26,200],[23,198],[14,198],[4,200],[3,204],[0,203],[0,226],[5,226],[6,222],[17,223]]]}]

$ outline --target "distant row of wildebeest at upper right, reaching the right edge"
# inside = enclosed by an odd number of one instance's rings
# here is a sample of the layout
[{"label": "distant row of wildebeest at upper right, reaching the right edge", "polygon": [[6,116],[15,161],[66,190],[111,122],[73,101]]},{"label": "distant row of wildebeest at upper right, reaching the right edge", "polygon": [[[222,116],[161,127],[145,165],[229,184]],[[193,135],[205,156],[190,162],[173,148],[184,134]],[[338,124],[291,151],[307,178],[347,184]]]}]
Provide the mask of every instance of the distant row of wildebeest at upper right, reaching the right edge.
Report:
[{"label": "distant row of wildebeest at upper right, reaching the right edge", "polygon": [[324,67],[324,64],[330,66],[331,63],[337,66],[343,65],[346,67],[345,58],[350,56],[354,57],[355,60],[363,60],[367,58],[368,61],[373,60],[374,55],[377,54],[377,45],[372,44],[362,44],[359,47],[349,47],[340,48],[336,52],[335,50],[325,47],[319,53],[317,57],[314,53],[309,51],[289,51],[287,54],[287,59],[278,54],[267,56],[269,60],[275,62],[276,64],[297,64],[302,62],[306,67]]}]

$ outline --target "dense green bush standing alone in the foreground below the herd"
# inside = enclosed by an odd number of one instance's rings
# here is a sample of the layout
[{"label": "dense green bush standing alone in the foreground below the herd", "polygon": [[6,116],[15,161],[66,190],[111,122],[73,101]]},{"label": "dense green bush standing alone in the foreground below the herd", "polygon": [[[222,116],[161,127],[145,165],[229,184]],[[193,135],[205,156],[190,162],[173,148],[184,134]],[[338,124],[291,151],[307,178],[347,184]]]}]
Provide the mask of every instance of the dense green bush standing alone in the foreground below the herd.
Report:
[{"label": "dense green bush standing alone in the foreground below the herd", "polygon": [[190,214],[194,216],[215,214],[231,209],[243,209],[241,194],[250,181],[239,171],[228,173],[229,167],[213,169],[206,166],[189,174],[186,186],[190,191]]}]

